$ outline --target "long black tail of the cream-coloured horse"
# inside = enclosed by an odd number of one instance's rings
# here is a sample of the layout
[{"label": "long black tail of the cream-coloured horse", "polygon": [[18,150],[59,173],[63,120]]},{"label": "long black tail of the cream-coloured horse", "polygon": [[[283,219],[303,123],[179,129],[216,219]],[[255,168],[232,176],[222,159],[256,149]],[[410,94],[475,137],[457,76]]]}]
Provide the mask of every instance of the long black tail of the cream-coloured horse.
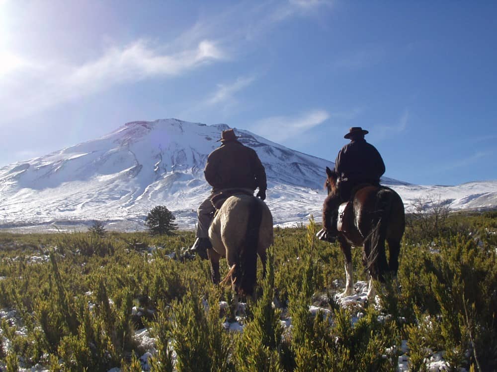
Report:
[{"label": "long black tail of the cream-coloured horse", "polygon": [[251,296],[257,277],[257,245],[262,219],[262,203],[257,198],[250,199],[245,238],[240,247],[239,260],[233,272],[235,289],[238,293]]}]

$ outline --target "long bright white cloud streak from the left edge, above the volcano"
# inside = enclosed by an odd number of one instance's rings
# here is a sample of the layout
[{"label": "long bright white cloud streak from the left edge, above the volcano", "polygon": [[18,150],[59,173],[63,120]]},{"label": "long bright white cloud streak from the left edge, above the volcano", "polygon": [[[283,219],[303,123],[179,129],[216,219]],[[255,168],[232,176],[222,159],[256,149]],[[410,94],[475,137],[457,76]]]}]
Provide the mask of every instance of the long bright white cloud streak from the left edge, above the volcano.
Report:
[{"label": "long bright white cloud streak from the left edge, above the volcano", "polygon": [[0,72],[0,108],[4,118],[13,119],[117,84],[176,76],[224,58],[221,49],[209,40],[170,54],[160,53],[146,41],[138,40],[124,48],[113,47],[100,58],[81,65],[60,61],[35,63],[17,57],[13,61],[22,63],[12,68],[9,62],[3,68],[5,73]]}]

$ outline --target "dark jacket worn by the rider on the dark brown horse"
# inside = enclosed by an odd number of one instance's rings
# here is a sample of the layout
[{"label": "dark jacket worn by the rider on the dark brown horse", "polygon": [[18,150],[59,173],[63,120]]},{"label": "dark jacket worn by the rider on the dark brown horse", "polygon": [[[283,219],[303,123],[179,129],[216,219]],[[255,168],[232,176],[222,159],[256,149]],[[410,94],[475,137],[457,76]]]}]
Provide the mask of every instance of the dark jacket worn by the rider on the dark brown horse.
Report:
[{"label": "dark jacket worn by the rider on the dark brown horse", "polygon": [[338,152],[335,172],[338,178],[346,178],[351,183],[379,183],[385,173],[385,163],[378,150],[361,138],[347,143]]}]

